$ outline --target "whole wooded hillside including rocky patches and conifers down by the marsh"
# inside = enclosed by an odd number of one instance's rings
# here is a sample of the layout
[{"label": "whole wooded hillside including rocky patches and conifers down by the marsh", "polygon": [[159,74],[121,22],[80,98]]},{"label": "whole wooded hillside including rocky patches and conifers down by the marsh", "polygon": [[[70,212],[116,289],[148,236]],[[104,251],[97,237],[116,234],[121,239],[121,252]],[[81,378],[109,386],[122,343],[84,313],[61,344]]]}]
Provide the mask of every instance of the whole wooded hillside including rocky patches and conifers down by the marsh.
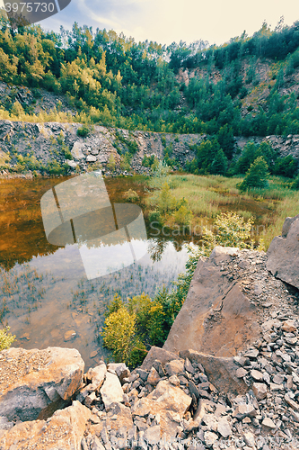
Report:
[{"label": "whole wooded hillside including rocky patches and conifers down by the marsh", "polygon": [[81,122],[85,135],[93,124],[207,135],[189,146],[195,157],[183,166],[165,144],[165,163],[199,175],[245,175],[252,165],[259,173],[264,165],[264,177],[246,175],[243,190],[267,187],[268,173],[298,174],[298,152],[282,155],[269,139],[241,150],[235,137],[299,134],[299,22],[280,21],[274,31],[263,23],[220,47],[166,47],[77,23],[60,33],[13,30],[2,11],[0,78],[0,119]]}]

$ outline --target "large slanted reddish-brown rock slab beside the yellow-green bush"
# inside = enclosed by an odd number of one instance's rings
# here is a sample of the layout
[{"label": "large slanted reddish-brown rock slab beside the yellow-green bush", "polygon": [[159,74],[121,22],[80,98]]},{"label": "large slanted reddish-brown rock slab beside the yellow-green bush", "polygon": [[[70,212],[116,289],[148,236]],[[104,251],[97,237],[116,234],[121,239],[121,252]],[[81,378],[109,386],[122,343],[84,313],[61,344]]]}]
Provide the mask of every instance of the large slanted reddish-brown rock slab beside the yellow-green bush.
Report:
[{"label": "large slanted reddish-brown rock slab beside the yellow-green bush", "polygon": [[238,248],[215,247],[208,259],[199,259],[164,350],[235,356],[259,337],[256,306],[242,293],[242,278],[224,271],[237,256]]}]

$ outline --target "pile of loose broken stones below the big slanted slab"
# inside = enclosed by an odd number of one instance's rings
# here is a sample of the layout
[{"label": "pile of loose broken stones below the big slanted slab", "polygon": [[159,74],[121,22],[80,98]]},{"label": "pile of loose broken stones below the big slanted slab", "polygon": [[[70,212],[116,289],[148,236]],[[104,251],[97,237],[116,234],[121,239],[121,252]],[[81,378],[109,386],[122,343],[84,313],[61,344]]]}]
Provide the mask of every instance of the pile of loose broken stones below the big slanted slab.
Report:
[{"label": "pile of loose broken stones below the big slanted slab", "polygon": [[254,345],[226,358],[247,392],[217,389],[196,351],[183,358],[152,347],[132,372],[124,364],[89,369],[73,406],[48,420],[0,420],[0,449],[298,448],[298,322],[273,316]]}]

